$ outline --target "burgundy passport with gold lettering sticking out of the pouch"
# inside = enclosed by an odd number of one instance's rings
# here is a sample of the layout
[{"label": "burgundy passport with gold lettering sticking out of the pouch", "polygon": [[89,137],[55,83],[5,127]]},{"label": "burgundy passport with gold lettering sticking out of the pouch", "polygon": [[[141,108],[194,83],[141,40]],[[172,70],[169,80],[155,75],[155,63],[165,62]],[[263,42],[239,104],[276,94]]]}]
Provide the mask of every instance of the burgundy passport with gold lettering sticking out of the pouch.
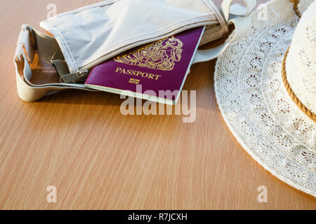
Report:
[{"label": "burgundy passport with gold lettering sticking out of the pouch", "polygon": [[204,27],[133,48],[94,67],[86,87],[176,104]]}]

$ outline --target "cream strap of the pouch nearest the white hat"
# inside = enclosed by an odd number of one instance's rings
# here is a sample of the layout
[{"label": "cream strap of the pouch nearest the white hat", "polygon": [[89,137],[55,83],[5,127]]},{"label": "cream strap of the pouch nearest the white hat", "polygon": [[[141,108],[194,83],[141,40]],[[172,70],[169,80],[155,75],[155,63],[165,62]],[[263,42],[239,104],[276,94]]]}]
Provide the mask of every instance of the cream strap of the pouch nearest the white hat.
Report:
[{"label": "cream strap of the pouch nearest the white hat", "polygon": [[[232,38],[226,40],[223,45],[216,48],[211,48],[209,50],[197,50],[197,54],[195,55],[195,59],[192,64],[215,59],[228,48],[230,43],[242,38],[242,36],[245,36],[249,31],[251,27],[251,19],[248,15],[256,7],[256,0],[243,0],[246,7],[238,3],[231,6],[232,1],[233,0],[224,0],[220,12],[223,14],[223,17],[227,21],[228,25],[235,25],[235,34],[233,34]],[[235,15],[235,17],[232,17],[231,15]]]}]

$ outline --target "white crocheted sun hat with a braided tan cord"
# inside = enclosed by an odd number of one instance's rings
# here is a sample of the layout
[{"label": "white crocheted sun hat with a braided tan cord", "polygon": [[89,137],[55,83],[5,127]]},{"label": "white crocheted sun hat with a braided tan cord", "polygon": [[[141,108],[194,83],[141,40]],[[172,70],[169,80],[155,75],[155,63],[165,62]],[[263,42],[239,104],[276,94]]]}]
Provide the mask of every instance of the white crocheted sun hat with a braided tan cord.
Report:
[{"label": "white crocheted sun hat with a braided tan cord", "polygon": [[251,20],[218,58],[219,109],[254,160],[316,197],[316,3],[272,0]]}]

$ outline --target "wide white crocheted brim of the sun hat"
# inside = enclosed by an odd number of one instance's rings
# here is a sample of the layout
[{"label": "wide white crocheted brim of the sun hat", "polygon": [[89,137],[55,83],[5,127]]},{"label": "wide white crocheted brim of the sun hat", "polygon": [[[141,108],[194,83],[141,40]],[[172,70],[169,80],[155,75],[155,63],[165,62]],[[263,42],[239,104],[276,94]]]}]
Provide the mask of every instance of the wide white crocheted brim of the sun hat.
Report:
[{"label": "wide white crocheted brim of the sun hat", "polygon": [[[303,11],[312,1],[302,1]],[[281,181],[316,197],[316,124],[291,100],[282,59],[298,23],[289,0],[251,14],[249,34],[218,57],[214,88],[239,144]]]}]

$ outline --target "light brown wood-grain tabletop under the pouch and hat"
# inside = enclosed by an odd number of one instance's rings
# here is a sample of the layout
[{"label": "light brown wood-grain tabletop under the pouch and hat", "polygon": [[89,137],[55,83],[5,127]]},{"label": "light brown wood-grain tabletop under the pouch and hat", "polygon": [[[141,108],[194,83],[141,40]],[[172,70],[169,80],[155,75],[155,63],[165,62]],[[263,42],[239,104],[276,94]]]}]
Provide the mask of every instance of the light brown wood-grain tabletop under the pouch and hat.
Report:
[{"label": "light brown wood-grain tabletop under the pouch and hat", "polygon": [[[62,13],[95,2],[0,1],[1,209],[316,208],[232,137],[214,97],[215,61],[193,66],[185,83],[184,90],[197,90],[195,123],[122,116],[122,99],[109,93],[65,91],[22,102],[13,67],[20,25],[39,28],[48,3]],[[46,201],[47,186],[56,186],[57,203]],[[268,203],[258,203],[258,186],[267,186]]]}]

